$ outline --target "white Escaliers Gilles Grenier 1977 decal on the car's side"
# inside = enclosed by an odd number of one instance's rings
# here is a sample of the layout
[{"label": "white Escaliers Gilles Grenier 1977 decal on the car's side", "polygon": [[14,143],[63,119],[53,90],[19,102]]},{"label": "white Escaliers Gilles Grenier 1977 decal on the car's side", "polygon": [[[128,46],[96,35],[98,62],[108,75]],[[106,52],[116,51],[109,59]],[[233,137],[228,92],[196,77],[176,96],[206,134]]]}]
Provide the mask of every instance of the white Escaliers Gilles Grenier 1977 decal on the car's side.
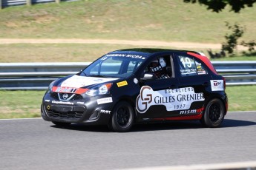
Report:
[{"label": "white Escaliers Gilles Grenier 1977 decal on the car's side", "polygon": [[164,105],[167,111],[186,110],[190,108],[191,103],[204,100],[203,92],[195,93],[193,87],[154,91],[150,86],[142,86],[136,108],[140,113],[145,113],[154,105]]}]

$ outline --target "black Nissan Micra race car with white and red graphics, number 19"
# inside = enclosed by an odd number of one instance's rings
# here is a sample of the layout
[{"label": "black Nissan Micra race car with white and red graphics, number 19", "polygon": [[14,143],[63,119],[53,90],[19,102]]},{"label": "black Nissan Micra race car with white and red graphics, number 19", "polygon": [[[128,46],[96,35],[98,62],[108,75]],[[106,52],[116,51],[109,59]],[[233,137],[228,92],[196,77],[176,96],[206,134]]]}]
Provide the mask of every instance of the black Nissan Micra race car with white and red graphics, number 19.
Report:
[{"label": "black Nissan Micra race car with white and red graphics, number 19", "polygon": [[41,112],[56,126],[108,125],[114,132],[165,120],[218,127],[228,111],[225,89],[225,78],[200,52],[116,50],[76,75],[53,81]]}]

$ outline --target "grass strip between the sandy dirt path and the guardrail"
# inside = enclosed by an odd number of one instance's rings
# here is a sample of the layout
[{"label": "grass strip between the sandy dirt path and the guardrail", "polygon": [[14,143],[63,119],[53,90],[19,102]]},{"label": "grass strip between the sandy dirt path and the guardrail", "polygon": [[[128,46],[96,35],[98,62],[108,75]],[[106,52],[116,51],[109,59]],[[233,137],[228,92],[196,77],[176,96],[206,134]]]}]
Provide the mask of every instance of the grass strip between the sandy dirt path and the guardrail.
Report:
[{"label": "grass strip between the sandy dirt path and the guardrail", "polygon": [[[92,62],[113,50],[135,48],[121,44],[0,44],[0,63]],[[145,47],[145,46],[140,46]],[[154,47],[154,46],[152,46]],[[161,48],[161,47],[157,47]],[[166,47],[162,47],[166,48]],[[174,48],[172,48],[174,49]],[[187,49],[195,50],[196,49]],[[201,50],[202,51],[202,50]],[[209,56],[206,50],[203,52]],[[256,56],[218,58],[212,61],[256,61]]]}]

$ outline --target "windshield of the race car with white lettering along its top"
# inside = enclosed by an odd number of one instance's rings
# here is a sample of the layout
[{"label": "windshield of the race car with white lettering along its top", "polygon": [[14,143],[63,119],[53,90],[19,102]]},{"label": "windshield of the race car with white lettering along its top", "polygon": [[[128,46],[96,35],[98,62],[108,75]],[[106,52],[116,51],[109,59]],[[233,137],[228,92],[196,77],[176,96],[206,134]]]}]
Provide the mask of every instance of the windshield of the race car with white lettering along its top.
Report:
[{"label": "windshield of the race car with white lettering along its top", "polygon": [[108,54],[86,67],[81,75],[92,77],[127,78],[133,74],[145,58],[140,55]]}]

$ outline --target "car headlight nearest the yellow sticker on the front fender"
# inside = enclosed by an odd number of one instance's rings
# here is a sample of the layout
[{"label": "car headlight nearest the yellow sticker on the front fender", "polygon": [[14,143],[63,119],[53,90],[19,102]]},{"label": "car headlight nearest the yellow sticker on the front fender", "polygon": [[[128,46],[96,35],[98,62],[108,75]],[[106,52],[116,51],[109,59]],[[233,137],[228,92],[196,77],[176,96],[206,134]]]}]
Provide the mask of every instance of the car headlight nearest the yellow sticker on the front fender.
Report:
[{"label": "car headlight nearest the yellow sticker on the front fender", "polygon": [[109,94],[112,84],[100,84],[89,89],[85,94],[90,96]]}]

